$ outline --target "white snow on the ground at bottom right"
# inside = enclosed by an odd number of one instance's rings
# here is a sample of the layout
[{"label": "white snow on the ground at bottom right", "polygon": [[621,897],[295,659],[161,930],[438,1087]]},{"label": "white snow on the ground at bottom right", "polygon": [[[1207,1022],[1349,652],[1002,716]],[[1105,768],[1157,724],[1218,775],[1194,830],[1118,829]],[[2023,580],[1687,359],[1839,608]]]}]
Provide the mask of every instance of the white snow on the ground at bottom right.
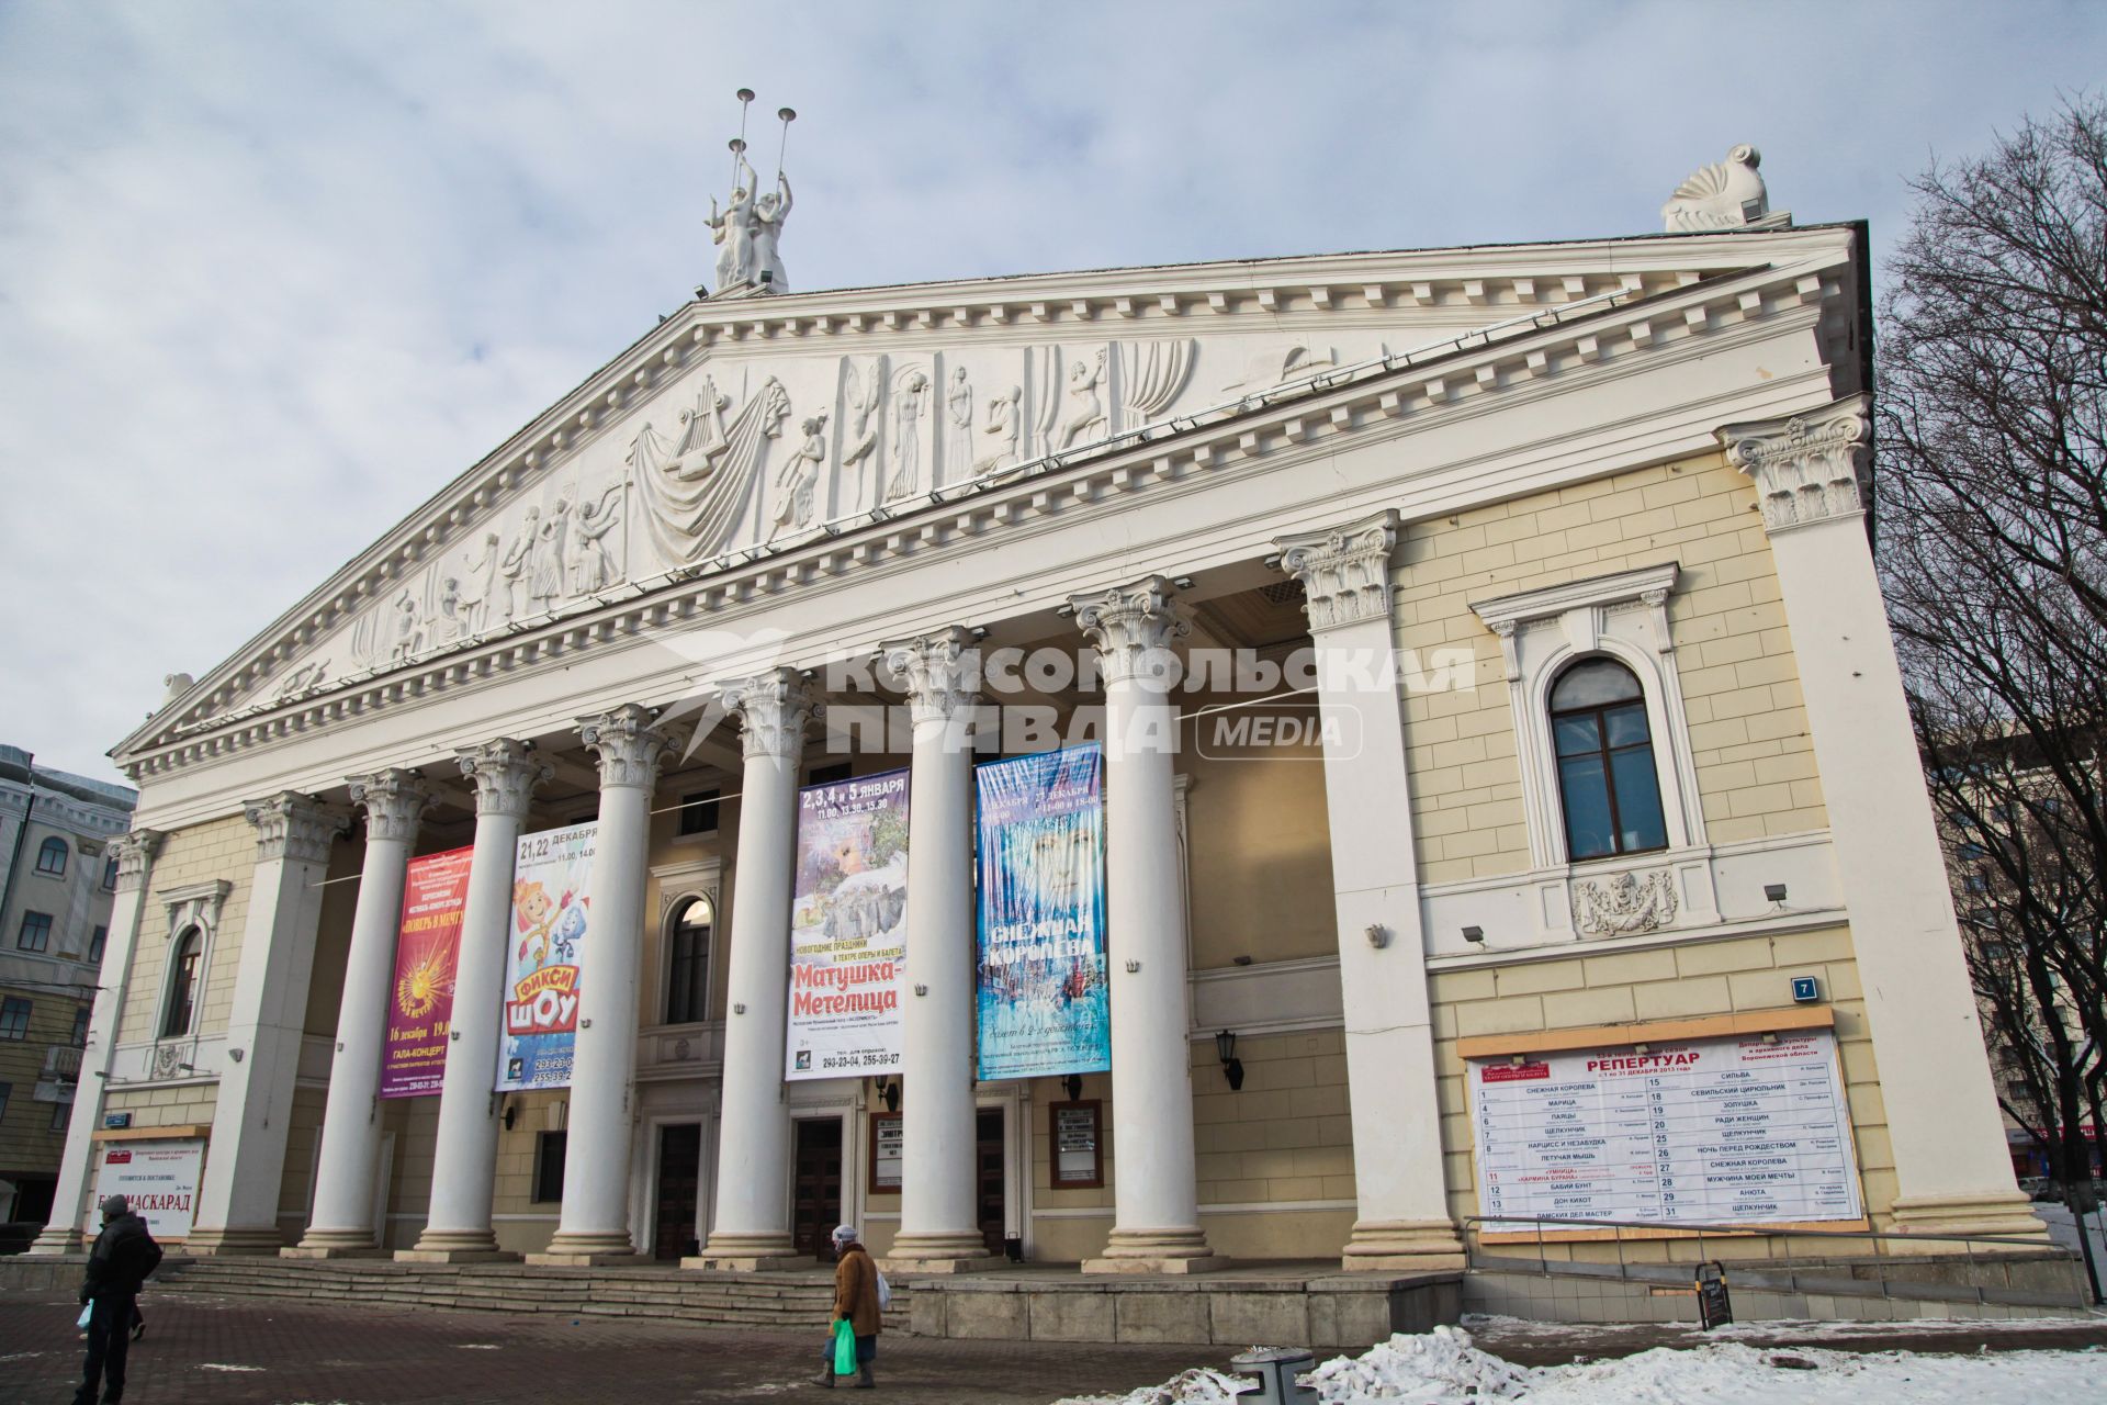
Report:
[{"label": "white snow on the ground at bottom right", "polygon": [[[1618,1361],[1517,1367],[1481,1352],[1460,1327],[1395,1335],[1361,1357],[1325,1361],[1304,1384],[1325,1405],[2040,1405],[2107,1399],[2107,1352],[1833,1352],[1719,1342],[1654,1348]],[[1062,1405],[1237,1405],[1237,1378],[1195,1369],[1125,1397]]]}]

